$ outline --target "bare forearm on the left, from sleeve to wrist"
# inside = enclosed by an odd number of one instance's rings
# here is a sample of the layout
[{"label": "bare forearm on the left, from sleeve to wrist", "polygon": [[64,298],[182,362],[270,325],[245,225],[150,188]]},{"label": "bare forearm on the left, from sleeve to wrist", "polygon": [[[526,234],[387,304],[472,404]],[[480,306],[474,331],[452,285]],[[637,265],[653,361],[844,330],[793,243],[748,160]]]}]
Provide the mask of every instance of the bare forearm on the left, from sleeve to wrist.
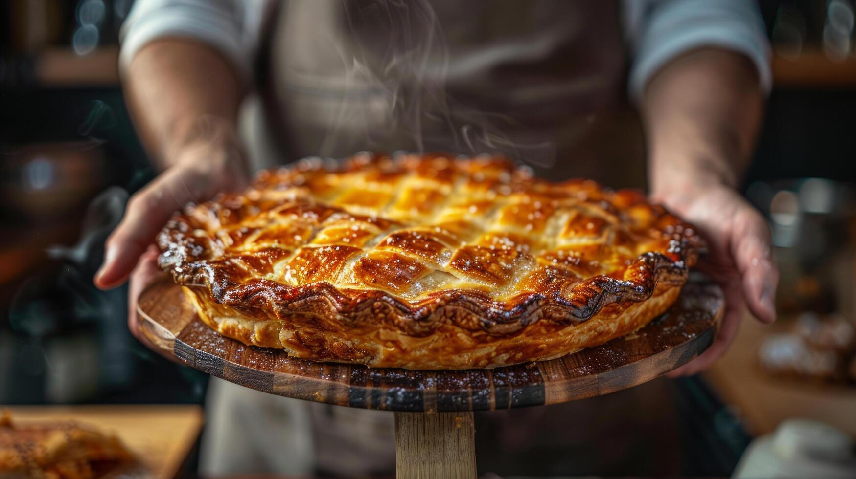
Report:
[{"label": "bare forearm on the left, from sleeve to wrist", "polygon": [[160,168],[198,139],[200,119],[234,130],[243,93],[235,69],[217,50],[183,38],[143,47],[128,67],[123,91],[137,132]]}]

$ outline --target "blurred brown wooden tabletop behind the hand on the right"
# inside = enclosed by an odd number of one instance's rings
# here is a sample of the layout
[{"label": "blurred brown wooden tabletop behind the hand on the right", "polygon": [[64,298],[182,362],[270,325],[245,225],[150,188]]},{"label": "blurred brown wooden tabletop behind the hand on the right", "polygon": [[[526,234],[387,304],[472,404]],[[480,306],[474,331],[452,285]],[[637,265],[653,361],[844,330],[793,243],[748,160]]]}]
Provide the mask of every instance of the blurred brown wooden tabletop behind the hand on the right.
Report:
[{"label": "blurred brown wooden tabletop behind the hand on the right", "polygon": [[856,387],[776,379],[760,370],[760,342],[767,334],[789,329],[786,322],[765,326],[746,317],[734,344],[704,378],[736,408],[752,435],[770,433],[790,417],[804,417],[856,437]]}]

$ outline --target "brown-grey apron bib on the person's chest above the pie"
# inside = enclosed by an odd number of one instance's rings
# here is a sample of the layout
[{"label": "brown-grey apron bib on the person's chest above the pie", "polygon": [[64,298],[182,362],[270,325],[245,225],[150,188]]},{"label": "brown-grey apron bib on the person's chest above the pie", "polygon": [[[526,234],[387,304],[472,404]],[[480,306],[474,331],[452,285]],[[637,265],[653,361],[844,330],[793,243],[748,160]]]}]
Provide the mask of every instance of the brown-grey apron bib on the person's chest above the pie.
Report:
[{"label": "brown-grey apron bib on the person's chest above the pie", "polygon": [[498,151],[571,172],[562,155],[623,97],[615,2],[292,1],[272,17],[259,78],[288,159]]}]

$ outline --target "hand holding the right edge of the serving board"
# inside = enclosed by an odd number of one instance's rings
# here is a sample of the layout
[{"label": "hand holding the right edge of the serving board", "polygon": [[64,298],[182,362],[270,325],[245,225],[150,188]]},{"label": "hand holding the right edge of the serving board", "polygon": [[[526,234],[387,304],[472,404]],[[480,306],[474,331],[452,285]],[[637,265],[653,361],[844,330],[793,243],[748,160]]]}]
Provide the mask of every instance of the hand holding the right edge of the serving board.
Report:
[{"label": "hand holding the right edge of the serving board", "polygon": [[779,270],[770,259],[767,222],[734,188],[716,184],[655,193],[653,197],[698,228],[708,246],[707,255],[699,258],[698,269],[719,282],[725,293],[725,314],[713,344],[668,375],[691,376],[726,352],[747,306],[758,321],[776,321]]}]

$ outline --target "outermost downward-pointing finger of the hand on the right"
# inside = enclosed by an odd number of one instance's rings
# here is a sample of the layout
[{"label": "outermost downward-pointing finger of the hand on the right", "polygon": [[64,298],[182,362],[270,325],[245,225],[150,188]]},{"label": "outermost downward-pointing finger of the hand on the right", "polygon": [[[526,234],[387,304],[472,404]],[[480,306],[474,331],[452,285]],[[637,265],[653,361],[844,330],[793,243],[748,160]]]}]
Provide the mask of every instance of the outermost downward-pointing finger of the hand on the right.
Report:
[{"label": "outermost downward-pointing finger of the hand on the right", "polygon": [[746,305],[761,322],[776,321],[776,285],[779,270],[770,257],[770,230],[757,211],[746,204],[735,218],[731,256],[742,278]]}]

